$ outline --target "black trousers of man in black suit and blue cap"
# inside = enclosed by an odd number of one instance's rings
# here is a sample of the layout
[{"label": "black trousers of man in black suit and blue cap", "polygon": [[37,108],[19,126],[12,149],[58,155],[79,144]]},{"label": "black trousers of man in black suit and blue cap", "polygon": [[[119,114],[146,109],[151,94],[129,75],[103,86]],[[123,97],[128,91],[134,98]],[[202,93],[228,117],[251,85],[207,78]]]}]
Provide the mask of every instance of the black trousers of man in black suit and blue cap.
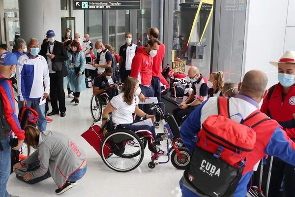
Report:
[{"label": "black trousers of man in black suit and blue cap", "polygon": [[[49,74],[50,77],[50,100],[52,111],[65,112],[65,98],[63,90],[63,77],[58,77],[57,73]],[[58,105],[59,101],[59,105]]]}]

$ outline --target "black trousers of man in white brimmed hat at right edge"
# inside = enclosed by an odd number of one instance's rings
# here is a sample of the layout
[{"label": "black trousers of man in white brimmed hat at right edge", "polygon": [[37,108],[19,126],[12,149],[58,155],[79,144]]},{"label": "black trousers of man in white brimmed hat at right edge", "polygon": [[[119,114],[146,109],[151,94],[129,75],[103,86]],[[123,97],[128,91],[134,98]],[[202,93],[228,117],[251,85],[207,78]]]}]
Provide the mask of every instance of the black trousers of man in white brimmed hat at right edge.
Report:
[{"label": "black trousers of man in white brimmed hat at right edge", "polygon": [[[284,181],[283,194],[280,192]],[[295,197],[295,166],[273,157],[268,197]]]}]

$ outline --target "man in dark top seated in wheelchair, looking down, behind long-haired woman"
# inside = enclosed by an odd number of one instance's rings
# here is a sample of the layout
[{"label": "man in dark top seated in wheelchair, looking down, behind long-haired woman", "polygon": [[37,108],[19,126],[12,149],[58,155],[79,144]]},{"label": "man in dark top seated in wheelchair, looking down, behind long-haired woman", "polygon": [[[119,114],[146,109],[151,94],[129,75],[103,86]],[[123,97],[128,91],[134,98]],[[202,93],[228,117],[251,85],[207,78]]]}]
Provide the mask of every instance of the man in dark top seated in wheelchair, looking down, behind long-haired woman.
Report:
[{"label": "man in dark top seated in wheelchair, looking down, behind long-haired woman", "polygon": [[118,95],[118,81],[113,75],[113,68],[107,66],[102,74],[98,74],[94,79],[93,95],[104,94],[109,100]]}]

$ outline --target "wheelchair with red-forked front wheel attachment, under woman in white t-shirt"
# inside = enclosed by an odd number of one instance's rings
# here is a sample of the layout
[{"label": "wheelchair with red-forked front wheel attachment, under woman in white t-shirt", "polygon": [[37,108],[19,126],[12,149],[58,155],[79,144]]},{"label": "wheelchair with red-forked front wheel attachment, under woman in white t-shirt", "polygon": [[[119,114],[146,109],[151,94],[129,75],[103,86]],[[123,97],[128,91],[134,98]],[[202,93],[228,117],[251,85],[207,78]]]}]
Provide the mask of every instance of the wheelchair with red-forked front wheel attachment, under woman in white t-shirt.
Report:
[{"label": "wheelchair with red-forked front wheel attachment, under woman in white t-shirt", "polygon": [[[171,159],[171,163],[177,169],[185,169],[190,162],[191,154],[183,146],[182,140],[179,138],[179,128],[175,119],[169,114],[164,116],[158,105],[152,104],[151,109],[161,115],[161,120],[164,124],[164,132],[157,134],[157,138],[153,141],[153,146],[161,145],[162,141],[166,141],[168,160],[166,162],[158,162],[158,155],[155,153],[151,157],[148,167],[154,168],[158,164],[166,164]],[[171,117],[173,121],[170,121]],[[147,135],[126,129],[115,130],[111,120],[107,122],[105,127],[109,132],[101,143],[101,153],[107,153],[101,154],[103,162],[109,168],[118,172],[128,172],[137,168],[143,161],[147,143],[150,143],[148,142]],[[101,131],[103,130],[104,128],[101,129]],[[131,140],[136,142],[138,146],[130,145],[128,142]],[[177,147],[176,144],[180,145]],[[169,145],[172,147],[169,148]]]}]

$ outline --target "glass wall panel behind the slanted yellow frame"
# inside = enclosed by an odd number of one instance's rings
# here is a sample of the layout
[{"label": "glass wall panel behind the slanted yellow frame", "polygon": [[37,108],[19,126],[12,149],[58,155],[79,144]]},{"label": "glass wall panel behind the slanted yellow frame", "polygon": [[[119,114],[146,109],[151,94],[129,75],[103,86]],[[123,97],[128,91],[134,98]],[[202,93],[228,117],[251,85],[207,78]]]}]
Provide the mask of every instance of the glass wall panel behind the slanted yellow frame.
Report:
[{"label": "glass wall panel behind the slanted yellow frame", "polygon": [[[211,5],[201,7],[198,20],[191,33],[199,0],[174,0],[173,41],[174,61],[185,60],[186,66],[197,66],[206,77],[211,69],[212,16],[209,17]],[[207,20],[209,23],[205,29]],[[200,42],[204,32],[203,39]],[[189,40],[191,34],[191,39]]]}]

